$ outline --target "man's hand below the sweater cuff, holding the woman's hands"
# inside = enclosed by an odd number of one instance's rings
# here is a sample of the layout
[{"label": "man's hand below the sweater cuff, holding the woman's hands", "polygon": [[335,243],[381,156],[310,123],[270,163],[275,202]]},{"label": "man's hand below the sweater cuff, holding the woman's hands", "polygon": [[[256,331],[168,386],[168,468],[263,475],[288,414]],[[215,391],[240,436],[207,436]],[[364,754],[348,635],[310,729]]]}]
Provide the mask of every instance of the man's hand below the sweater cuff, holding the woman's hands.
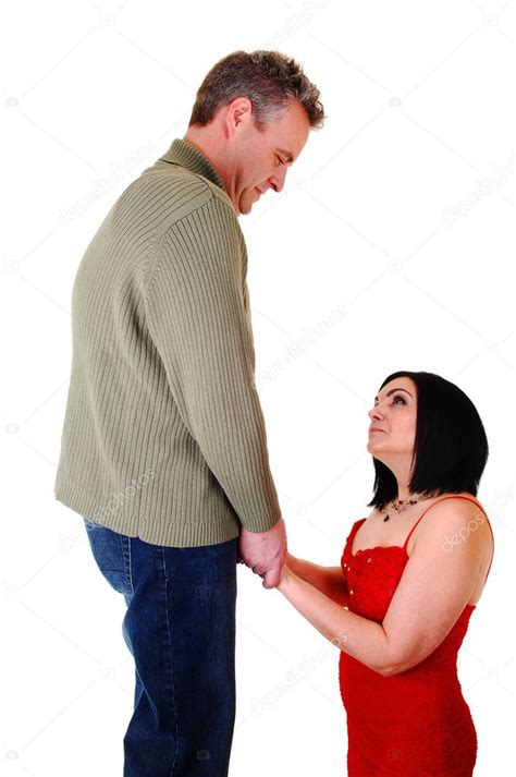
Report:
[{"label": "man's hand below the sweater cuff, holding the woman's hands", "polygon": [[263,578],[265,588],[275,588],[286,556],[285,522],[282,518],[268,532],[241,530],[239,557],[255,574]]}]

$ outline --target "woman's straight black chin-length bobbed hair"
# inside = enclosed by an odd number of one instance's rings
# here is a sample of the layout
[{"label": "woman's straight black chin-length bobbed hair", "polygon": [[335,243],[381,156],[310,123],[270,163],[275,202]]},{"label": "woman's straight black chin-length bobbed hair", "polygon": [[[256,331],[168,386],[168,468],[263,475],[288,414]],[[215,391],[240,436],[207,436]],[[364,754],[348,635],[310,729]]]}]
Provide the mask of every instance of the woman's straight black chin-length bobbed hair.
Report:
[{"label": "woman's straight black chin-length bobbed hair", "polygon": [[[398,372],[391,380],[408,377],[417,388],[417,422],[410,494],[439,496],[466,491],[477,495],[488,461],[486,430],[474,403],[457,386],[434,373]],[[378,459],[373,497],[368,507],[382,509],[397,498],[397,482]]]}]

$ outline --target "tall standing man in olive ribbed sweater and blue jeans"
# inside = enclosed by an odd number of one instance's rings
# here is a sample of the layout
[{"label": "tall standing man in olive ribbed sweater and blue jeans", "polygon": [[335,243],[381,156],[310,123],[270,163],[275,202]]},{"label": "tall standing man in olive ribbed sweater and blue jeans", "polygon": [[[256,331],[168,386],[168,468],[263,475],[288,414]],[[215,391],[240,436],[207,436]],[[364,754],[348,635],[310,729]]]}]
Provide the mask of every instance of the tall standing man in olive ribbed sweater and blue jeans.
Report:
[{"label": "tall standing man in olive ribbed sweater and blue jeans", "polygon": [[224,58],[184,138],[120,196],[77,270],[56,497],[127,604],[125,777],[228,774],[238,551],[268,588],[286,553],[237,216],[281,192],[322,121],[293,60]]}]

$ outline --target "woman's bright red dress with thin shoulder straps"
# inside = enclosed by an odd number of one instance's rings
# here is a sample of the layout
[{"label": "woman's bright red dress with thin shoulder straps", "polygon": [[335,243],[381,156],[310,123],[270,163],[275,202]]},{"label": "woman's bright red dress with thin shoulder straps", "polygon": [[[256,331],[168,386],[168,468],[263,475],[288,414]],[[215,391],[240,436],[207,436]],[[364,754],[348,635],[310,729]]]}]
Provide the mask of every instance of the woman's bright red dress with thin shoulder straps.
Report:
[{"label": "woman's bright red dress with thin shoulder straps", "polygon": [[[444,497],[452,498],[475,502],[486,515],[476,500]],[[365,520],[353,524],[342,570],[347,581],[348,609],[381,623],[408,560],[406,546],[416,525],[403,547],[366,548],[352,555],[353,539]],[[474,609],[475,605],[466,605],[433,653],[396,675],[384,677],[341,653],[339,676],[347,715],[349,777],[472,774],[477,734],[457,678],[457,652]]]}]

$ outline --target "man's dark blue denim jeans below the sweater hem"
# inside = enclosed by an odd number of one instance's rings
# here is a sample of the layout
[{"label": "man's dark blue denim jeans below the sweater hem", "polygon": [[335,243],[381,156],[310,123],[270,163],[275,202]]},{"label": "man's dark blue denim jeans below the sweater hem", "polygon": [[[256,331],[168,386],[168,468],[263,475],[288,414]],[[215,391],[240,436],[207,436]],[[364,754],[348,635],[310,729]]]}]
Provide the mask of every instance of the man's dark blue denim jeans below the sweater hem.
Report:
[{"label": "man's dark blue denim jeans below the sweater hem", "polygon": [[172,548],[84,522],[101,573],[127,605],[122,633],[136,679],[124,777],[226,777],[237,541]]}]

